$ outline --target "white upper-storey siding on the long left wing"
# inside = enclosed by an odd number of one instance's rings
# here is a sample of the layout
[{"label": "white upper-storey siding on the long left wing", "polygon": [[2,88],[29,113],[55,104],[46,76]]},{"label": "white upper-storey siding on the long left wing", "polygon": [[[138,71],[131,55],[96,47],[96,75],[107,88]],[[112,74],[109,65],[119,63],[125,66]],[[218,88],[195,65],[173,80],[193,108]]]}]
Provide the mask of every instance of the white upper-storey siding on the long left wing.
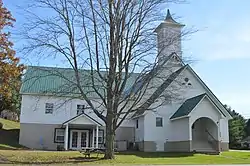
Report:
[{"label": "white upper-storey siding on the long left wing", "polygon": [[[45,114],[45,103],[53,103],[53,114]],[[69,99],[64,97],[32,96],[22,95],[21,123],[40,124],[62,124],[63,122],[77,115],[77,104],[87,106],[87,103],[79,99]],[[91,109],[86,109],[85,113],[102,125],[104,122],[96,116]],[[121,126],[133,127],[134,122],[125,120]]]}]

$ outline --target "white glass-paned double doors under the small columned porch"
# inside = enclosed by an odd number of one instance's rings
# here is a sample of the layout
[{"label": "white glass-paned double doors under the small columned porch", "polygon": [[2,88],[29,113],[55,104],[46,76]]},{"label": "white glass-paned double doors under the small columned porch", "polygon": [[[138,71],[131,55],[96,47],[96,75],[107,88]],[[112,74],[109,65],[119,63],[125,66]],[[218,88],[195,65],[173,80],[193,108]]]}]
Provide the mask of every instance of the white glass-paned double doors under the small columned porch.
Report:
[{"label": "white glass-paned double doors under the small columned porch", "polygon": [[89,146],[88,130],[71,130],[70,148],[74,150],[83,149]]}]

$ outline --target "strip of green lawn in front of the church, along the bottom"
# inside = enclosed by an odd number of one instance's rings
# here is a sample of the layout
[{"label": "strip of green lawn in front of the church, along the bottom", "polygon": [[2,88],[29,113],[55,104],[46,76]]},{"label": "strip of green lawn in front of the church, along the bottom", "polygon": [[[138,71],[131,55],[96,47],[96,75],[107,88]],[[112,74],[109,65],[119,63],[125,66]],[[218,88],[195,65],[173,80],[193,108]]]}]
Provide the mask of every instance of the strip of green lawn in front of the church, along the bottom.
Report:
[{"label": "strip of green lawn in front of the church, along the bottom", "polygon": [[178,153],[117,153],[116,159],[104,161],[102,156],[86,159],[79,152],[45,152],[0,150],[0,163],[12,164],[249,164],[250,152],[223,152],[220,155]]}]

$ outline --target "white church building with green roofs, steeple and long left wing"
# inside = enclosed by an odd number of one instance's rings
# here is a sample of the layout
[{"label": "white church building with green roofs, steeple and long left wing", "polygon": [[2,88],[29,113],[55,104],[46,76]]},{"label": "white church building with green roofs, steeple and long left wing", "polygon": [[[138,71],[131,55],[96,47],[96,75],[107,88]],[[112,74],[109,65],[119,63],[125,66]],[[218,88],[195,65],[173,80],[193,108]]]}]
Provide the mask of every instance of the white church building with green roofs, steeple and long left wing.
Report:
[{"label": "white church building with green roofs, steeple and long left wing", "polygon": [[[229,149],[228,120],[232,117],[195,71],[182,62],[180,34],[183,26],[168,11],[166,19],[155,29],[158,50],[161,50],[159,59],[172,69],[171,72],[163,70],[162,74],[166,79],[173,73],[176,76],[176,81],[166,90],[179,86],[181,99],[172,100],[154,111],[131,115],[116,131],[118,150],[127,150],[131,146],[145,152],[220,152]],[[169,36],[180,39],[166,47],[163,41]],[[45,77],[48,70],[72,72],[67,68],[27,68],[20,91],[19,143],[32,149],[48,150],[56,150],[58,146],[65,150],[103,146],[105,124],[93,111],[85,109],[87,103],[84,100],[69,100],[67,96],[45,93],[51,88],[56,89],[62,81],[52,75]]]}]

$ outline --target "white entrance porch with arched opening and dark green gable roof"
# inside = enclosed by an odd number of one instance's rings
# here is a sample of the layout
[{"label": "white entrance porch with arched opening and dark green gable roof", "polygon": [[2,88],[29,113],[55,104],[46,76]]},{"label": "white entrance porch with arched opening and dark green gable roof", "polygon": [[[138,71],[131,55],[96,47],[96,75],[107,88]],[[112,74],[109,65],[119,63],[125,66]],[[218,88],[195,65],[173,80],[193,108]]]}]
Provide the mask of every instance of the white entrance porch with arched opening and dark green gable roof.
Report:
[{"label": "white entrance porch with arched opening and dark green gable roof", "polygon": [[[220,120],[226,118],[207,94],[187,99],[170,118],[190,152],[220,152]],[[174,127],[177,128],[177,127]],[[180,139],[182,139],[180,138]]]}]

